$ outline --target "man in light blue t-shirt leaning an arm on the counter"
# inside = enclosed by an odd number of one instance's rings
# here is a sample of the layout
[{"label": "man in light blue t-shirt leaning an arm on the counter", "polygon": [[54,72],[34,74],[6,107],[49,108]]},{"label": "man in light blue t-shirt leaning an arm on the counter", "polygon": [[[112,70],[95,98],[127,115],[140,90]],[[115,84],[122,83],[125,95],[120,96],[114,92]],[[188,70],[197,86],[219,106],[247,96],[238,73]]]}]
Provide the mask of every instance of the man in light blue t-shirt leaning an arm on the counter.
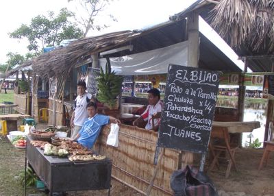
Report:
[{"label": "man in light blue t-shirt leaning an arm on the counter", "polygon": [[108,123],[121,124],[121,121],[114,117],[97,114],[97,105],[94,102],[88,103],[86,110],[88,111],[88,119],[86,119],[81,130],[73,140],[77,140],[78,143],[90,149],[95,144],[103,125]]}]

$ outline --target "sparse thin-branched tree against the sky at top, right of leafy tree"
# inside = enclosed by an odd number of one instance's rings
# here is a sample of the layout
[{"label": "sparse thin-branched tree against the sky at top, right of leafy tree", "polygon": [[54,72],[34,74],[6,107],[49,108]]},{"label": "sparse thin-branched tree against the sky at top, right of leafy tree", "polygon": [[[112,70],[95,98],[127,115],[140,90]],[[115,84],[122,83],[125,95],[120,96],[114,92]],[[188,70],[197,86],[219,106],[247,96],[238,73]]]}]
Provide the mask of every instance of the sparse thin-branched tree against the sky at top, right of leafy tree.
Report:
[{"label": "sparse thin-branched tree against the sky at top, right of leafy tree", "polygon": [[[68,0],[68,2],[71,1],[77,1],[81,9],[84,11],[77,11],[77,13],[80,13],[81,16],[78,16],[78,14],[74,15],[77,23],[82,25],[84,29],[84,38],[87,36],[90,29],[97,29],[98,31],[100,31],[101,29],[108,27],[108,25],[106,24],[97,23],[98,20],[95,20],[95,18],[103,12],[103,10],[106,8],[107,5],[110,4],[110,1],[112,0]],[[76,6],[77,10],[79,10],[79,8],[77,8],[79,5],[77,4]],[[112,21],[117,21],[111,14],[108,14],[108,16]],[[103,21],[103,23],[105,23],[105,21]]]}]

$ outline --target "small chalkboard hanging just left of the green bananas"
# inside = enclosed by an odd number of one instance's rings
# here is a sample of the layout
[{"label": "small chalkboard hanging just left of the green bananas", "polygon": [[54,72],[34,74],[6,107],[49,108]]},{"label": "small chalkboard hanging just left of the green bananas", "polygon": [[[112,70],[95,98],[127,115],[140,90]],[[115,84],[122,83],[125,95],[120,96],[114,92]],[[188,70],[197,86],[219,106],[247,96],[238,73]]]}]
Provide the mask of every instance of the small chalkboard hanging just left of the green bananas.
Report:
[{"label": "small chalkboard hanging just left of the green bananas", "polygon": [[100,69],[88,67],[88,82],[86,83],[86,90],[93,96],[97,95],[97,81],[96,78],[100,73]]}]

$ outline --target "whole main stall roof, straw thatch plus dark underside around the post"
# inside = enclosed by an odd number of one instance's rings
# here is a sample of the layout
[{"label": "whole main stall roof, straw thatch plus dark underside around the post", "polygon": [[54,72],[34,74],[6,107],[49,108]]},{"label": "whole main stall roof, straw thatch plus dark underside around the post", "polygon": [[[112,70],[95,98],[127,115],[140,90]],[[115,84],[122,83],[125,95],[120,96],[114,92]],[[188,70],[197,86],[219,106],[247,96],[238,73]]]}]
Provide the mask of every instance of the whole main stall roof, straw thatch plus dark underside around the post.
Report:
[{"label": "whole main stall roof, straw thatch plus dark underside around the post", "polygon": [[[74,66],[82,64],[94,53],[108,51],[125,45],[134,45],[132,51],[120,51],[108,57],[125,56],[174,45],[186,40],[186,14],[201,8],[207,1],[198,0],[190,8],[171,17],[170,21],[147,29],[123,31],[82,38],[71,42],[67,47],[58,48],[32,60],[34,73],[41,77],[68,75]],[[241,71],[205,36],[201,36],[199,66],[203,69],[220,71]],[[210,58],[208,58],[210,56]],[[221,66],[220,66],[221,65]],[[24,66],[24,64],[23,64]]]}]

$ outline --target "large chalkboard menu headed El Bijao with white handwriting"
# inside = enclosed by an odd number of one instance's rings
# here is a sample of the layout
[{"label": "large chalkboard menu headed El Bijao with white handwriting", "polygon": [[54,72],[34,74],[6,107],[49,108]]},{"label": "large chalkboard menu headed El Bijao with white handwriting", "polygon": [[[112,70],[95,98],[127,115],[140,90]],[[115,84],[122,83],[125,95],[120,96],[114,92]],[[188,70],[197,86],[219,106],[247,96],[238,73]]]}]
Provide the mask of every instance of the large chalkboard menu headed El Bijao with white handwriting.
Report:
[{"label": "large chalkboard menu headed El Bijao with white handwriting", "polygon": [[218,72],[170,64],[158,147],[206,152],[218,89]]}]

